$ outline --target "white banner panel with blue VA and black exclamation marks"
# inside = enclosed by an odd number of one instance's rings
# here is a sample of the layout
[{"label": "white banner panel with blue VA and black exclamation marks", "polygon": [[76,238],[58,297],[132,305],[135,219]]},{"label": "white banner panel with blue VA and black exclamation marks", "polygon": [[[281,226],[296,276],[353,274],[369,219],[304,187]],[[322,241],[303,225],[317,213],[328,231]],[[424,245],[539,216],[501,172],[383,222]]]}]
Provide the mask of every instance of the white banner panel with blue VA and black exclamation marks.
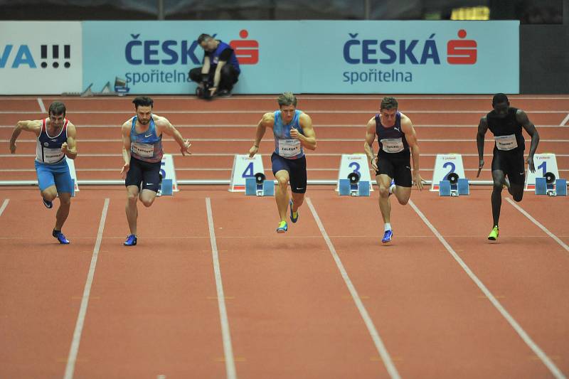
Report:
[{"label": "white banner panel with blue VA and black exclamation marks", "polygon": [[82,43],[79,21],[1,21],[0,95],[80,92]]}]

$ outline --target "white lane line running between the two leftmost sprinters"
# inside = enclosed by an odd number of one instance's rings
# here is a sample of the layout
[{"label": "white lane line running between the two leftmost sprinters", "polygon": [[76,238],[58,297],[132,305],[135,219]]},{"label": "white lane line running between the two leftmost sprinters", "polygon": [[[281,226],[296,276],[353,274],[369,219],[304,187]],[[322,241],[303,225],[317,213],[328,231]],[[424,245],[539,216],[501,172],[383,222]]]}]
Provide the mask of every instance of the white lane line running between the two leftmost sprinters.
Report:
[{"label": "white lane line running between the two leftmost sprinters", "polygon": [[75,324],[75,331],[73,331],[73,341],[71,341],[71,348],[69,349],[69,356],[67,358],[67,365],[65,365],[64,379],[72,379],[75,371],[75,362],[77,362],[77,354],[79,352],[79,343],[81,341],[81,333],[83,332],[83,324],[85,323],[85,314],[87,314],[87,305],[89,304],[89,296],[91,294],[91,286],[93,277],[95,276],[95,267],[97,266],[97,257],[99,257],[99,249],[101,247],[102,232],[105,229],[105,220],[107,219],[107,210],[109,209],[109,198],[105,198],[105,205],[102,207],[101,220],[99,222],[99,231],[97,232],[97,241],[93,247],[93,255],[91,257],[91,265],[85,281],[85,289],[83,289],[83,297],[79,307],[79,314],[77,316],[77,323]]}]

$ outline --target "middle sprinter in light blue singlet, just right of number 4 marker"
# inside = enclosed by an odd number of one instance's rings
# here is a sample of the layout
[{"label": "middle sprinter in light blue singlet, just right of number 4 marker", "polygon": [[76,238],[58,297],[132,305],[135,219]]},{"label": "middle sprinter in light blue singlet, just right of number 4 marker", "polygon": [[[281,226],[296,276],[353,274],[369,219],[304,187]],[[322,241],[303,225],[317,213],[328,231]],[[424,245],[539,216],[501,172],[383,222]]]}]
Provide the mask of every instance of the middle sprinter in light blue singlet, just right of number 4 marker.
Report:
[{"label": "middle sprinter in light blue singlet, just right of number 4 marker", "polygon": [[[255,142],[249,149],[252,157],[259,151],[265,129],[272,129],[275,136],[275,151],[271,156],[272,174],[277,178],[275,200],[279,211],[280,222],[277,233],[288,230],[287,209],[290,208],[290,220],[298,220],[298,208],[304,202],[304,193],[307,191],[307,160],[304,148],[316,149],[316,134],[312,128],[312,119],[309,115],[297,110],[297,97],[292,92],[285,92],[277,97],[279,110],[263,114],[257,124]],[[289,201],[287,191],[290,182],[292,199]]]}]

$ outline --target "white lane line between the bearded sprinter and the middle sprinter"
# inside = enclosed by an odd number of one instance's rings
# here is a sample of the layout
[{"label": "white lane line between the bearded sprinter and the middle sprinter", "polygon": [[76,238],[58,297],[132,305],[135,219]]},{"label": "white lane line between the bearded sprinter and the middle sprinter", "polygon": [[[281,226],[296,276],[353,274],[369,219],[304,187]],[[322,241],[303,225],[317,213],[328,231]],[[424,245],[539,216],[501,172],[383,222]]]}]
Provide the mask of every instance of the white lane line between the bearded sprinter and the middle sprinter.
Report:
[{"label": "white lane line between the bearded sprinter and the middle sprinter", "polygon": [[208,210],[209,240],[211,242],[211,253],[213,255],[213,272],[216,276],[216,289],[218,294],[219,319],[221,322],[221,335],[223,338],[223,355],[225,356],[225,371],[228,379],[236,379],[235,359],[233,357],[233,346],[231,345],[231,333],[229,331],[229,319],[225,308],[225,295],[223,294],[223,282],[221,282],[221,269],[219,265],[218,244],[216,242],[216,230],[213,228],[213,213],[211,211],[211,200],[206,198],[206,209]]}]

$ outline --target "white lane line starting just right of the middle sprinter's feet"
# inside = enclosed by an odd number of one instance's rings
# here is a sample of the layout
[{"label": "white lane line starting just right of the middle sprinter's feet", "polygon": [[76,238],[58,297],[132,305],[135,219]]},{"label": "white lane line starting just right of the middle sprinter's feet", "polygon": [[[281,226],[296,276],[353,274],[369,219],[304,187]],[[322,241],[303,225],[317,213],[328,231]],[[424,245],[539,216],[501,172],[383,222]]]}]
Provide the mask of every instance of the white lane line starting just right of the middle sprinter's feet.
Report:
[{"label": "white lane line starting just right of the middle sprinter's feet", "polygon": [[314,220],[316,220],[318,228],[320,229],[320,233],[322,233],[322,237],[324,237],[324,240],[326,241],[326,245],[328,245],[332,257],[334,257],[334,262],[336,262],[336,266],[338,267],[340,274],[344,279],[344,282],[346,283],[346,287],[348,287],[348,290],[351,294],[351,298],[353,299],[353,302],[356,303],[356,308],[360,312],[361,318],[363,319],[363,322],[366,324],[366,327],[368,328],[368,333],[370,334],[373,343],[376,345],[376,349],[379,355],[381,356],[381,360],[383,361],[385,368],[387,369],[391,378],[400,378],[397,368],[395,368],[393,360],[391,359],[391,356],[389,355],[387,348],[385,348],[385,345],[381,340],[381,336],[379,336],[379,333],[376,330],[376,326],[373,325],[373,321],[371,320],[371,317],[369,316],[366,307],[363,306],[363,302],[361,301],[360,295],[356,291],[356,287],[354,287],[353,283],[351,282],[348,272],[344,268],[344,264],[342,264],[342,261],[340,260],[340,257],[336,252],[336,248],[332,244],[332,241],[330,240],[328,233],[326,233],[324,225],[322,224],[318,216],[318,213],[316,212],[316,208],[314,208],[314,205],[312,205],[312,201],[310,200],[310,198],[307,198],[307,204],[310,208],[310,211],[312,212],[312,215],[314,216]]}]

